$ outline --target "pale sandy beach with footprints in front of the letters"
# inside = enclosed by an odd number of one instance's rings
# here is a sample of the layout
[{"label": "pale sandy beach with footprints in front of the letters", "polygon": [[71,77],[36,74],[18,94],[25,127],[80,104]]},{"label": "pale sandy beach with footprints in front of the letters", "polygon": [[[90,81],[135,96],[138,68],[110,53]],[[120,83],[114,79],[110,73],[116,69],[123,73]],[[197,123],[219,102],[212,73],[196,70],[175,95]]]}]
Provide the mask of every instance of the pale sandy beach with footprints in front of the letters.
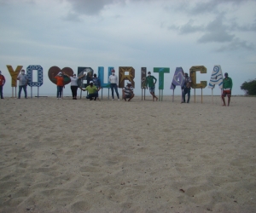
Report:
[{"label": "pale sandy beach with footprints in front of the letters", "polygon": [[0,101],[0,212],[255,212],[256,98]]}]

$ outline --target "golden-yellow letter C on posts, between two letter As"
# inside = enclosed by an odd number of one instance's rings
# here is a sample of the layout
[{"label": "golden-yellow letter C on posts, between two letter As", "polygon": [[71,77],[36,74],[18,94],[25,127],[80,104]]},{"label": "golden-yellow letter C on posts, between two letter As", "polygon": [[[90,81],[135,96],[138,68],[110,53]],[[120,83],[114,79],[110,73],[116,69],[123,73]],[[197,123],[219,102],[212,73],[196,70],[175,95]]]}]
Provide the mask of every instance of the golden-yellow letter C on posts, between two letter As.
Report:
[{"label": "golden-yellow letter C on posts, between two letter As", "polygon": [[206,66],[192,66],[189,69],[190,78],[192,81],[191,87],[194,89],[201,88],[201,103],[202,103],[202,89],[207,87],[207,81],[201,81],[201,83],[196,83],[196,72],[207,73]]}]

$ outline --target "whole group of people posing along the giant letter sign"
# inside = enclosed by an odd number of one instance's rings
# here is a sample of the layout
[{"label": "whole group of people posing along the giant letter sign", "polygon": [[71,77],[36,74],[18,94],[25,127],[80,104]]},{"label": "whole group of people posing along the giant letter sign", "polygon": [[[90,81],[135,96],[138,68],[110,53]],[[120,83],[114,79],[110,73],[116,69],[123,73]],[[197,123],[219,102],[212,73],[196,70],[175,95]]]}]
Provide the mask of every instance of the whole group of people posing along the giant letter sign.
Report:
[{"label": "whole group of people posing along the giant letter sign", "polygon": [[[114,101],[114,95],[113,95],[113,90],[115,91],[117,97],[118,97],[118,101],[119,101],[119,91],[118,91],[118,78],[115,75],[115,71],[114,69],[111,71],[112,74],[109,76],[108,80],[110,82],[110,89],[112,92],[112,101]],[[89,99],[90,101],[94,100],[98,100],[99,101],[99,90],[102,89],[101,87],[101,81],[99,78],[97,78],[96,74],[93,75],[93,78],[90,79],[90,84],[85,88],[81,88],[78,85],[78,80],[80,78],[84,78],[84,76],[86,75],[84,73],[84,75],[81,75],[80,77],[77,77],[77,75],[75,73],[73,73],[73,76],[69,76],[67,73],[65,72],[59,72],[54,78],[56,79],[56,85],[57,85],[57,99],[61,99],[61,95],[62,95],[62,90],[63,88],[65,88],[65,84],[64,84],[64,77],[63,75],[67,76],[68,78],[70,78],[71,84],[70,84],[70,88],[72,91],[72,95],[73,95],[73,100],[77,100],[77,92],[78,92],[78,88],[82,89],[83,91],[88,91],[88,95],[86,96],[86,99]],[[20,74],[17,77],[17,80],[19,80],[19,93],[18,93],[18,98],[20,99],[20,95],[21,95],[21,91],[22,89],[24,90],[25,93],[25,98],[27,98],[27,93],[26,93],[26,85],[28,83],[28,78],[27,75],[25,74],[25,70],[21,70]],[[1,99],[3,99],[3,85],[5,83],[5,78],[2,75],[2,72],[0,71],[0,95],[1,95]],[[145,85],[147,87],[147,89],[149,88],[149,92],[152,95],[153,101],[158,101],[158,98],[156,97],[156,95],[154,95],[154,88],[155,88],[155,83],[157,82],[157,79],[154,78],[154,76],[151,75],[151,72],[148,72],[148,76],[146,78],[145,81]],[[186,95],[188,95],[188,99],[187,99],[187,103],[189,103],[190,100],[190,90],[191,90],[191,78],[189,77],[188,73],[184,73],[184,83],[182,86],[183,89],[183,101],[182,103],[186,103]],[[231,97],[231,90],[233,87],[233,83],[232,83],[232,79],[229,77],[229,74],[227,72],[224,73],[224,79],[223,79],[223,92],[222,92],[222,101],[223,101],[223,106],[226,106],[226,102],[225,102],[225,96],[228,96],[228,107],[230,106],[230,97]],[[134,93],[133,93],[133,88],[131,86],[131,83],[127,83],[127,85],[125,86],[125,88],[122,90],[122,94],[123,94],[123,99],[126,101],[128,99],[128,101],[131,101],[131,99],[134,97]]]}]

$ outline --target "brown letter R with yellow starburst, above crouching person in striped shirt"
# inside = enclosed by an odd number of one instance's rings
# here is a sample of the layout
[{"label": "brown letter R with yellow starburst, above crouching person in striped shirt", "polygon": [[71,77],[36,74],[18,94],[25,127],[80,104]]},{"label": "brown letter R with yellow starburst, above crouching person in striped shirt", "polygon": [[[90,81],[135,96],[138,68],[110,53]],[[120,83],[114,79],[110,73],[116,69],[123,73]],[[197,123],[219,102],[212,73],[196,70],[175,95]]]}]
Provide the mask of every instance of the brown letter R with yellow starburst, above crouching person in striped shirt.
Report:
[{"label": "brown letter R with yellow starburst, above crouching person in striped shirt", "polygon": [[[125,72],[129,72],[126,75]],[[119,88],[125,87],[125,80],[129,80],[131,82],[131,86],[135,88],[135,83],[133,79],[135,78],[135,70],[132,66],[119,66]]]}]

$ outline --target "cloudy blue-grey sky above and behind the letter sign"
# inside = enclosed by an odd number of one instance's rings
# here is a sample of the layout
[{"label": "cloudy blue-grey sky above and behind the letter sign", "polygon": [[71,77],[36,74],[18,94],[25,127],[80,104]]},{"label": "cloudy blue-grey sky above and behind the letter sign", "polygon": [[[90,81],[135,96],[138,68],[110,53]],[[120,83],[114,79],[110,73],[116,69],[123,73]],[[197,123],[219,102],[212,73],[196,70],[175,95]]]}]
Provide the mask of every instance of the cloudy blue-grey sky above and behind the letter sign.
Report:
[{"label": "cloudy blue-grey sky above and behind the letter sign", "polygon": [[[197,83],[209,83],[213,66],[220,65],[233,80],[232,95],[244,95],[241,84],[256,78],[255,8],[256,0],[0,0],[0,70],[7,81],[3,94],[12,93],[7,65],[14,70],[42,66],[39,95],[56,93],[48,78],[51,66],[76,73],[79,66],[96,73],[104,66],[106,81],[108,66],[116,71],[132,66],[136,95],[141,94],[141,67],[151,72],[169,67],[163,94],[172,95],[176,67],[189,72],[191,66],[206,66]],[[159,79],[158,73],[153,75]],[[33,88],[33,95],[37,92]],[[66,85],[64,95],[70,94]],[[179,94],[180,88],[175,89]],[[212,89],[203,89],[203,95],[211,94]]]}]

